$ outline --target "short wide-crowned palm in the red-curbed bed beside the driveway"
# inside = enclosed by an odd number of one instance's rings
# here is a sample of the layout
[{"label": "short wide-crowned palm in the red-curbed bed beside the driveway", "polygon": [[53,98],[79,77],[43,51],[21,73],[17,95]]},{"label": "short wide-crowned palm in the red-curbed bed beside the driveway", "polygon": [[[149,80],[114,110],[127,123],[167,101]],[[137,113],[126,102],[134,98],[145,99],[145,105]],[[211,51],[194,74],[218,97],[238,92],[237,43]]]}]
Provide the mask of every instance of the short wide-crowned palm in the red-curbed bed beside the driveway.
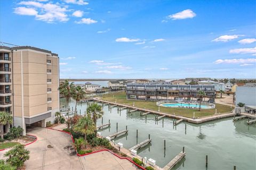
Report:
[{"label": "short wide-crowned palm in the red-curbed bed beside the driveway", "polygon": [[74,130],[84,134],[84,140],[87,141],[87,135],[93,134],[96,129],[94,122],[90,115],[85,115],[79,118],[78,122],[74,126]]}]

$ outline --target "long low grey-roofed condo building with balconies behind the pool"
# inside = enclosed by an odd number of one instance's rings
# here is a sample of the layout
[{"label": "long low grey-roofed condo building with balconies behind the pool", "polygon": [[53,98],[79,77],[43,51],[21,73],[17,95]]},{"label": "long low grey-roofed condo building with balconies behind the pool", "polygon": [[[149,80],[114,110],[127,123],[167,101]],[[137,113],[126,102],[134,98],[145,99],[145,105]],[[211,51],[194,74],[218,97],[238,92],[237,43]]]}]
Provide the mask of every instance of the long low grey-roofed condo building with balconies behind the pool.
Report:
[{"label": "long low grey-roofed condo building with balconies behind the pool", "polygon": [[171,84],[127,84],[126,98],[135,100],[197,100],[198,91],[206,94],[205,101],[214,102],[215,90],[213,85],[171,85]]}]

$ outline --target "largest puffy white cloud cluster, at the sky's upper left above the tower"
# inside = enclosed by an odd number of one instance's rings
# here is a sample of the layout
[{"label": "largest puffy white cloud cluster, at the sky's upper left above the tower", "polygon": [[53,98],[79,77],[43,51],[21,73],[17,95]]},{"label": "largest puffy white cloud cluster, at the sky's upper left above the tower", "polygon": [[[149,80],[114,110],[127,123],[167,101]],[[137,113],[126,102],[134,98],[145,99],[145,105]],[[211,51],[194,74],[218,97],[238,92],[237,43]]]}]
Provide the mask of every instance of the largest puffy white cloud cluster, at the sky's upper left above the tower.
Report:
[{"label": "largest puffy white cloud cluster, at the sky's upper left above the tower", "polygon": [[[16,7],[14,13],[20,15],[34,15],[36,20],[41,20],[49,23],[55,21],[66,22],[69,20],[66,12],[66,7],[62,7],[59,3],[39,3],[34,1],[21,1],[19,5],[27,7]],[[29,8],[28,8],[29,6]],[[33,8],[30,8],[33,7]]]}]

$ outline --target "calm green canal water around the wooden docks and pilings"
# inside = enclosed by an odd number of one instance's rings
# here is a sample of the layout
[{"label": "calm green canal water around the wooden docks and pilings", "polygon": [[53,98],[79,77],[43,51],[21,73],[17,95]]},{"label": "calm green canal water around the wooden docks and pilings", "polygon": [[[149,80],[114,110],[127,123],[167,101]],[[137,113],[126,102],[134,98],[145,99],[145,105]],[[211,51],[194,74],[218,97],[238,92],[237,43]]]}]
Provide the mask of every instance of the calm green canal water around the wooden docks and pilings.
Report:
[{"label": "calm green canal water around the wooden docks and pilings", "polygon": [[[65,105],[65,100],[61,101]],[[70,106],[75,109],[75,103]],[[79,109],[84,113],[86,103],[78,105],[78,113]],[[139,112],[129,114],[124,110],[118,114],[117,108],[110,112],[108,106],[104,106],[103,111],[103,123],[108,123],[108,120],[111,123],[110,128],[100,131],[103,137],[116,132],[117,122],[118,131],[124,130],[127,125],[129,133],[114,139],[115,143],[121,142],[127,149],[137,144],[137,129],[138,143],[150,134],[151,145],[138,150],[138,155],[155,159],[160,167],[169,163],[184,146],[186,157],[173,169],[206,169],[205,155],[209,159],[207,169],[233,169],[233,165],[236,169],[256,169],[256,124],[247,125],[246,120],[233,123],[231,118],[224,118],[199,125],[187,123],[185,131],[185,123],[175,127],[170,118],[164,118],[164,123],[162,120],[157,123],[153,114],[147,115],[146,121]],[[97,123],[100,125],[101,119]]]}]

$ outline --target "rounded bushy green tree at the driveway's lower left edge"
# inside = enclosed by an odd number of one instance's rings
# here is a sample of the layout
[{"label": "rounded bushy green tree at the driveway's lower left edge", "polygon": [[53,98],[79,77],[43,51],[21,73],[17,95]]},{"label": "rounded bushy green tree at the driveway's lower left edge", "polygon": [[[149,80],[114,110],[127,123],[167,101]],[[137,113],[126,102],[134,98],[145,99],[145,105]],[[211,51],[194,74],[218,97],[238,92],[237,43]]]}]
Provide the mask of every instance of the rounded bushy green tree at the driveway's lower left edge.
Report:
[{"label": "rounded bushy green tree at the driveway's lower left edge", "polygon": [[26,160],[29,159],[30,151],[25,149],[23,145],[15,145],[13,149],[7,151],[4,156],[8,157],[6,162],[9,163],[11,166],[15,166],[20,168],[24,165]]}]

